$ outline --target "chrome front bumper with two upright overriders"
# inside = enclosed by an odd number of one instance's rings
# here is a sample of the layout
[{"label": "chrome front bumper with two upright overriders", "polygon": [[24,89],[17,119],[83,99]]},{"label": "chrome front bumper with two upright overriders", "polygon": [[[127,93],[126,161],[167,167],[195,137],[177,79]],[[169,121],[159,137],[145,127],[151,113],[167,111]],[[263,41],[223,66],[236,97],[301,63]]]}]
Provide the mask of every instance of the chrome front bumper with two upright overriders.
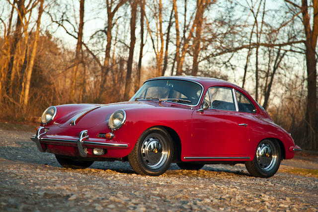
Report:
[{"label": "chrome front bumper with two upright overriders", "polygon": [[44,131],[44,127],[40,127],[36,134],[31,137],[31,140],[36,143],[36,146],[38,147],[40,152],[45,152],[45,150],[42,148],[41,142],[49,142],[49,143],[59,143],[59,145],[65,144],[75,144],[77,145],[79,149],[79,154],[82,157],[87,156],[86,147],[84,145],[93,145],[93,146],[102,146],[102,147],[117,147],[117,148],[127,148],[128,144],[126,143],[109,143],[109,142],[96,142],[96,141],[87,141],[88,135],[87,130],[83,130],[79,134],[79,138],[77,140],[73,139],[58,139],[58,138],[43,138],[43,136],[46,134]]}]

